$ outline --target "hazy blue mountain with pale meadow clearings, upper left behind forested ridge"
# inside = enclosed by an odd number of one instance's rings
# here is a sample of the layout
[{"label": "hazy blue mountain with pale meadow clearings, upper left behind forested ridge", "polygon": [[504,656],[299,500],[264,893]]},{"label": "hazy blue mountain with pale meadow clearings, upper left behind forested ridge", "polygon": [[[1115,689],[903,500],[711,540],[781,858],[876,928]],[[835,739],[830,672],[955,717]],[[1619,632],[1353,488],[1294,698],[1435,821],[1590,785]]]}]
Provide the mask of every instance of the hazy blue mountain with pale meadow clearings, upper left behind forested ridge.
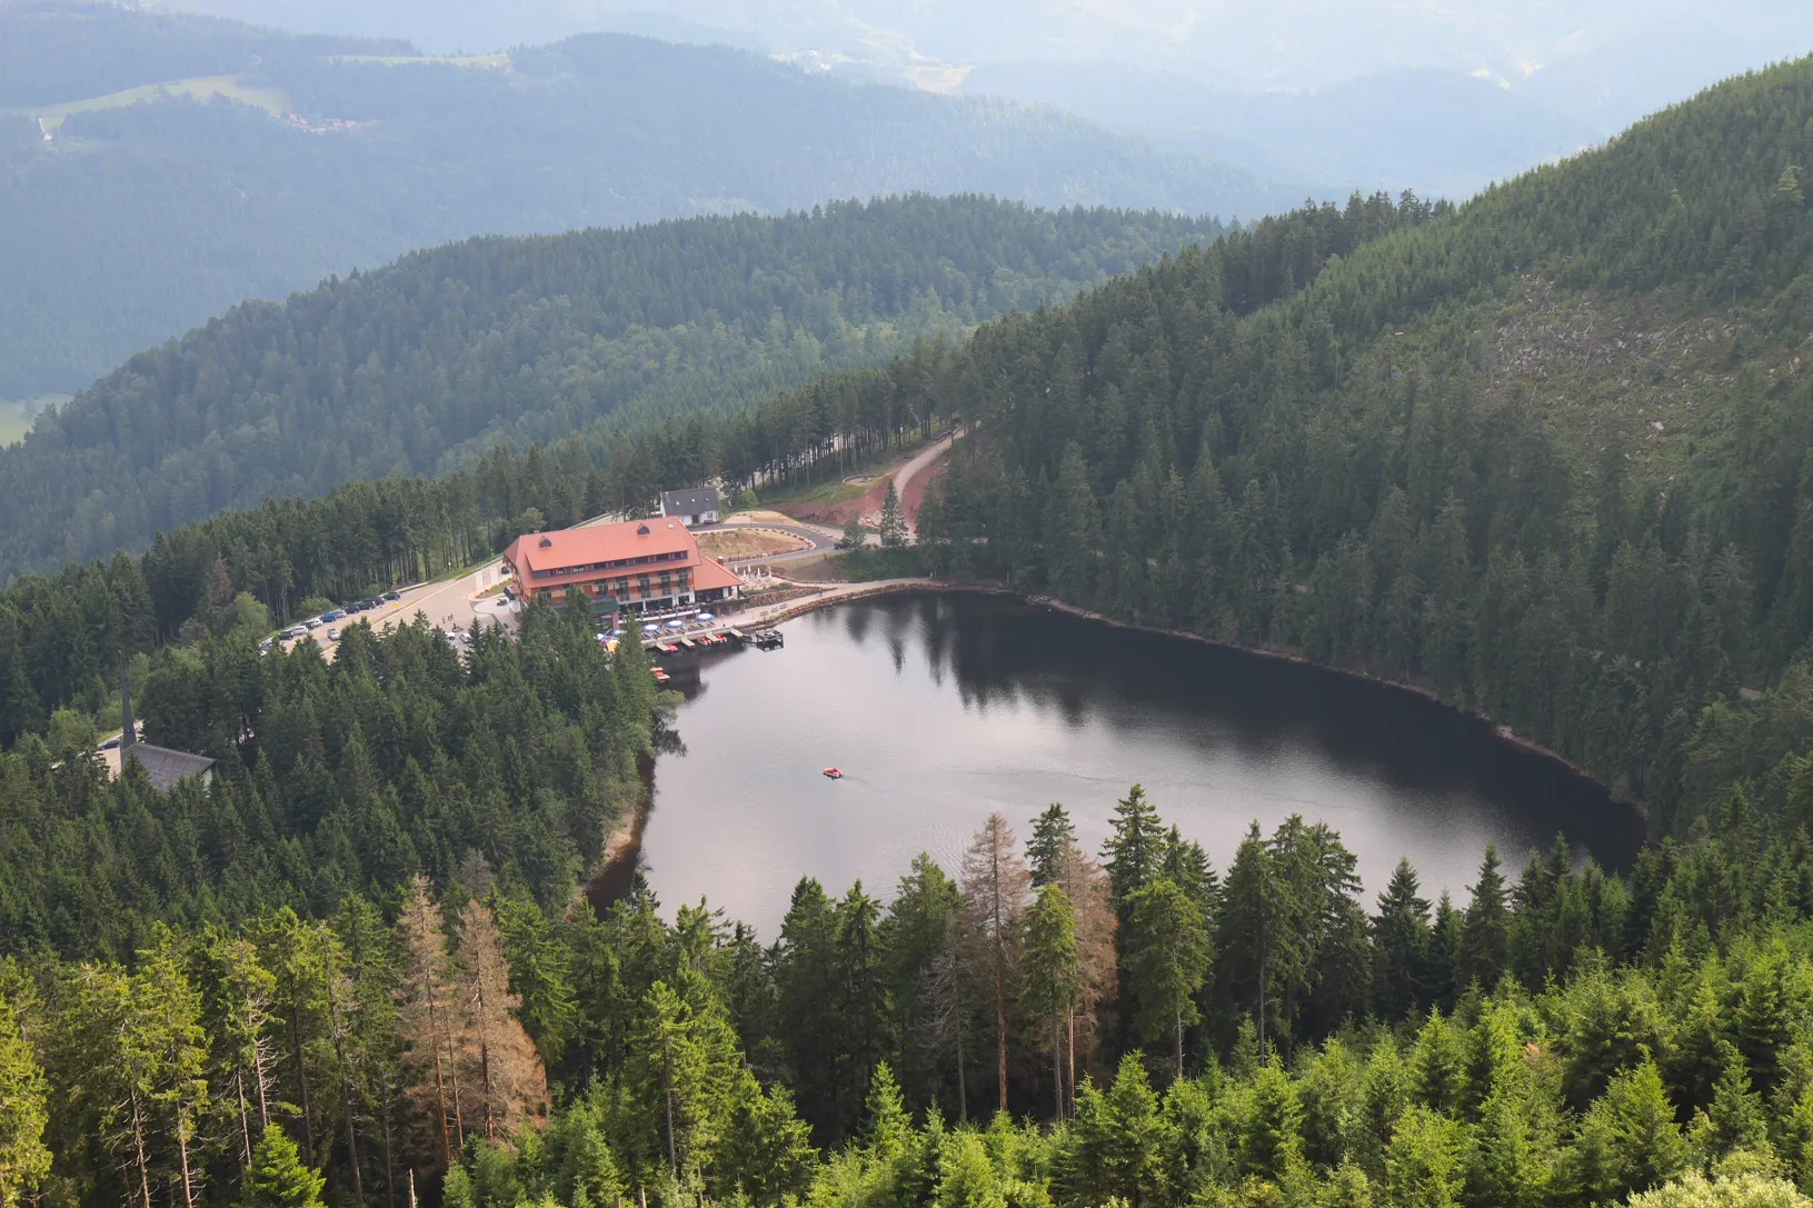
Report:
[{"label": "hazy blue mountain with pale meadow clearings, upper left behind forested ridge", "polygon": [[1046,107],[624,34],[506,54],[0,4],[0,399],[73,392],[243,297],[471,234],[836,198],[1256,216],[1304,185]]}]

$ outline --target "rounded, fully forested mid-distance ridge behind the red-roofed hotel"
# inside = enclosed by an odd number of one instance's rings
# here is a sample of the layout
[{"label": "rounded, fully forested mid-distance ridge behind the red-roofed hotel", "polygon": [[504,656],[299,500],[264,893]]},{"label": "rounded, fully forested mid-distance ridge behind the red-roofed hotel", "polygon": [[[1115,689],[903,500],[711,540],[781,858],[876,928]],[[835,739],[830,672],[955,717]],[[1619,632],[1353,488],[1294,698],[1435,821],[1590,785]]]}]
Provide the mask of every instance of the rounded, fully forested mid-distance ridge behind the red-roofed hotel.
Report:
[{"label": "rounded, fully forested mid-distance ridge behind the red-roofed hotel", "polygon": [[0,580],[138,550],[223,508],[433,473],[495,443],[736,410],[1218,232],[910,196],[417,252],[245,303],[0,450]]}]

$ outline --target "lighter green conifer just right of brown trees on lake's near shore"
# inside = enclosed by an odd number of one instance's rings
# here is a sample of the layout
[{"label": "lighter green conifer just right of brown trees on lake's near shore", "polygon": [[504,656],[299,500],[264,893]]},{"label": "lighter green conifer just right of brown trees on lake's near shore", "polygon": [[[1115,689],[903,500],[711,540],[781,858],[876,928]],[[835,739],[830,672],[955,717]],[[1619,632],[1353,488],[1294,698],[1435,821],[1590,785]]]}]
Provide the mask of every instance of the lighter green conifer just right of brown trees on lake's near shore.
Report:
[{"label": "lighter green conifer just right of brown trees on lake's near shore", "polygon": [[1169,1041],[1177,1077],[1184,1077],[1184,1030],[1202,1016],[1197,994],[1209,972],[1209,927],[1197,900],[1160,878],[1129,901],[1122,934],[1128,989],[1142,1039]]}]

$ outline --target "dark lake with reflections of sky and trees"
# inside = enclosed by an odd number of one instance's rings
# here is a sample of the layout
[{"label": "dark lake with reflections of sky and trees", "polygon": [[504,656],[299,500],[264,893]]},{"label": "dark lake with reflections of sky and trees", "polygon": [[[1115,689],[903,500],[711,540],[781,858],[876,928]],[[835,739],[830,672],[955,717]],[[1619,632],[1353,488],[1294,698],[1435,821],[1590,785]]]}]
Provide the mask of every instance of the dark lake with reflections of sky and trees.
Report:
[{"label": "dark lake with reflections of sky and trees", "polygon": [[1478,718],[1300,664],[981,595],[843,604],[785,633],[705,658],[642,843],[665,909],[703,896],[763,940],[801,874],[890,898],[919,851],[954,872],[990,811],[1024,842],[1062,802],[1099,849],[1135,780],[1218,869],[1255,818],[1327,822],[1369,907],[1398,856],[1427,898],[1465,901],[1487,842],[1512,874],[1557,833],[1614,867],[1641,842],[1628,807]]}]

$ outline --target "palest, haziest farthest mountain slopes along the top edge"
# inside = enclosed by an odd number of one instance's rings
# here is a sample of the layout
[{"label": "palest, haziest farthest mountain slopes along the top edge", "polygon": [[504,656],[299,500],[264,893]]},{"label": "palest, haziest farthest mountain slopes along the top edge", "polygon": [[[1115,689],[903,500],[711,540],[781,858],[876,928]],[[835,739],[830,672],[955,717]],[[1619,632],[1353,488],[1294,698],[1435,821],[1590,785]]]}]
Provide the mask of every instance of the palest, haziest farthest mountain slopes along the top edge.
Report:
[{"label": "palest, haziest farthest mountain slopes along the top edge", "polygon": [[[165,0],[160,0],[163,4]],[[1606,138],[1713,82],[1813,51],[1800,0],[169,0],[321,33],[497,49],[598,29],[723,42],[819,67],[957,87],[1003,65],[1115,67],[1215,93],[1316,91],[1405,67],[1478,76]],[[1032,96],[1084,111],[1077,94]],[[1008,96],[1028,98],[1021,93]],[[1411,100],[1414,93],[1405,93]],[[1487,141],[1496,134],[1485,131]]]}]

